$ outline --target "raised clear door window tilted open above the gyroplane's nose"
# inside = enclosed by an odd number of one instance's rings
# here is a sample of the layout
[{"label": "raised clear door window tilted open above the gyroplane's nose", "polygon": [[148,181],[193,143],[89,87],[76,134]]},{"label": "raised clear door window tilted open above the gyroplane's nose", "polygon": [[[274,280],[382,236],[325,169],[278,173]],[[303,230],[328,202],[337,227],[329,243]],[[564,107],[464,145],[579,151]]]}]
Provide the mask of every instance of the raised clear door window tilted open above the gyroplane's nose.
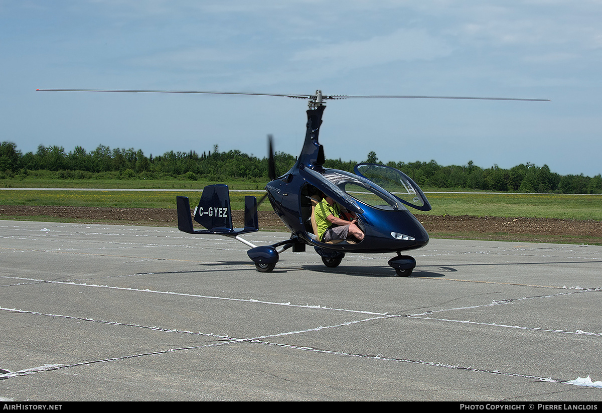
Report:
[{"label": "raised clear door window tilted open above the gyroplane's nose", "polygon": [[421,211],[430,211],[429,200],[416,182],[395,168],[379,164],[359,164],[355,172],[393,193],[406,205]]}]

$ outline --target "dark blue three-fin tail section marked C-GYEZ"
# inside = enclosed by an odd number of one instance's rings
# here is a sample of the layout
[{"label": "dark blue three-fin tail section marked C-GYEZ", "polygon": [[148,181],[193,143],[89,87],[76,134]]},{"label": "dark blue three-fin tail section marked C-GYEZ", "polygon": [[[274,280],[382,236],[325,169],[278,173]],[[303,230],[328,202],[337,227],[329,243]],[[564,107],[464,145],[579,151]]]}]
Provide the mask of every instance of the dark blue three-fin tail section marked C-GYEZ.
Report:
[{"label": "dark blue three-fin tail section marked C-GYEZ", "polygon": [[232,210],[228,185],[207,185],[200,196],[199,206],[194,210],[194,220],[206,230],[195,231],[190,217],[188,197],[176,197],[178,205],[178,229],[189,234],[236,235],[259,231],[257,199],[244,197],[244,228],[233,228]]}]

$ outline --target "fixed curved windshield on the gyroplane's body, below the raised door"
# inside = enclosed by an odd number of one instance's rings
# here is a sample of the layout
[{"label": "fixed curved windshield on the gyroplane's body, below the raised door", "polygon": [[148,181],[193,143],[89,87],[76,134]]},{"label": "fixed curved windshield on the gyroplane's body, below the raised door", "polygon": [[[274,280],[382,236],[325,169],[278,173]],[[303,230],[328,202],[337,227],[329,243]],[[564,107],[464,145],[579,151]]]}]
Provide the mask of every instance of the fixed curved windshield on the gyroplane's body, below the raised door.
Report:
[{"label": "fixed curved windshield on the gyroplane's body, below the raised door", "polygon": [[362,176],[336,169],[327,169],[324,178],[336,185],[341,191],[349,194],[366,205],[379,208],[380,210],[405,210],[405,206],[399,200],[391,196],[387,191],[380,188],[374,182],[362,178]]}]

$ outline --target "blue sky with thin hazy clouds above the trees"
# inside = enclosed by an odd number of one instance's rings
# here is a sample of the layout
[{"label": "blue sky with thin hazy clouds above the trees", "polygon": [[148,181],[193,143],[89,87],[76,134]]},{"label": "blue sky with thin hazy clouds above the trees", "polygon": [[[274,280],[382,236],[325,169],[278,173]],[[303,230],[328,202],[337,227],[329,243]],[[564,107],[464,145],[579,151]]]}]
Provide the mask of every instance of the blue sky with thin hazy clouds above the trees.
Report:
[{"label": "blue sky with thin hazy clouds above the trees", "polygon": [[0,141],[299,155],[302,99],[37,88],[482,96],[326,104],[326,158],[602,173],[600,0],[0,0]]}]

